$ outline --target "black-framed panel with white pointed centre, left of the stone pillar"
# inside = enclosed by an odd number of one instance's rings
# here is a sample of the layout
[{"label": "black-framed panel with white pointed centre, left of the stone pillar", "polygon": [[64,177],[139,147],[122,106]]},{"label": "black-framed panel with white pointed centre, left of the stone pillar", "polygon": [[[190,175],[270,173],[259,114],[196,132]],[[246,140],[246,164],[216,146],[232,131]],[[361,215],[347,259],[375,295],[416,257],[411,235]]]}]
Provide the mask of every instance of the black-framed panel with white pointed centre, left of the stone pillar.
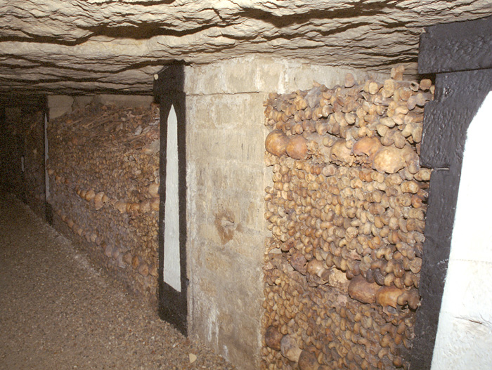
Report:
[{"label": "black-framed panel with white pointed centre, left of the stone pillar", "polygon": [[186,95],[183,65],[155,75],[160,104],[159,314],[188,331],[186,269]]}]

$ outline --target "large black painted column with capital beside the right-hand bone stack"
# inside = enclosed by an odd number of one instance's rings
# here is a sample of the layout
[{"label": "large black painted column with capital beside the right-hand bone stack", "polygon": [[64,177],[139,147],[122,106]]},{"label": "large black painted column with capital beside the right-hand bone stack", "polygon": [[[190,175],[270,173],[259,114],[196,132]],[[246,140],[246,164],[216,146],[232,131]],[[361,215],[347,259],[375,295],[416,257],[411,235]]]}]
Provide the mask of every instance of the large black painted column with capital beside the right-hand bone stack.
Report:
[{"label": "large black painted column with capital beside the right-hand bone stack", "polygon": [[470,123],[492,91],[492,17],[428,27],[420,38],[420,74],[436,74],[425,106],[420,161],[431,168],[411,370],[430,369],[448,269],[458,187]]}]

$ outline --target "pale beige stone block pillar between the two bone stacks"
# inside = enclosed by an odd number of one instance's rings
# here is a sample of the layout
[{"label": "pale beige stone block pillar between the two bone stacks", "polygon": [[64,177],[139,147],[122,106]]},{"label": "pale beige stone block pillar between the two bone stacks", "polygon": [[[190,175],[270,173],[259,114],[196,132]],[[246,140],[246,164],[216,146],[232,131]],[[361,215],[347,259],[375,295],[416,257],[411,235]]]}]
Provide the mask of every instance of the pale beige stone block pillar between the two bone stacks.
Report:
[{"label": "pale beige stone block pillar between the two bone stacks", "polygon": [[346,72],[267,58],[185,69],[188,326],[239,369],[258,369],[261,348],[264,189],[271,183],[264,101],[313,80],[339,84]]}]

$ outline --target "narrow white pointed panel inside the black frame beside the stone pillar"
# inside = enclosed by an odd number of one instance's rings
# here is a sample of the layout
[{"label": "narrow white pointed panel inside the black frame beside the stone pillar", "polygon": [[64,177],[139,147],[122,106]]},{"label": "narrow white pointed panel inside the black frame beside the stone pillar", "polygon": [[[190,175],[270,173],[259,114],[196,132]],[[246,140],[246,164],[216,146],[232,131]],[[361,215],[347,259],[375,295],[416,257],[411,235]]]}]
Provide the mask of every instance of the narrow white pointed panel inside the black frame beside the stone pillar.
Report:
[{"label": "narrow white pointed panel inside the black frame beside the stone pillar", "polygon": [[179,265],[178,119],[174,107],[167,118],[166,211],[164,214],[164,282],[181,291]]}]

